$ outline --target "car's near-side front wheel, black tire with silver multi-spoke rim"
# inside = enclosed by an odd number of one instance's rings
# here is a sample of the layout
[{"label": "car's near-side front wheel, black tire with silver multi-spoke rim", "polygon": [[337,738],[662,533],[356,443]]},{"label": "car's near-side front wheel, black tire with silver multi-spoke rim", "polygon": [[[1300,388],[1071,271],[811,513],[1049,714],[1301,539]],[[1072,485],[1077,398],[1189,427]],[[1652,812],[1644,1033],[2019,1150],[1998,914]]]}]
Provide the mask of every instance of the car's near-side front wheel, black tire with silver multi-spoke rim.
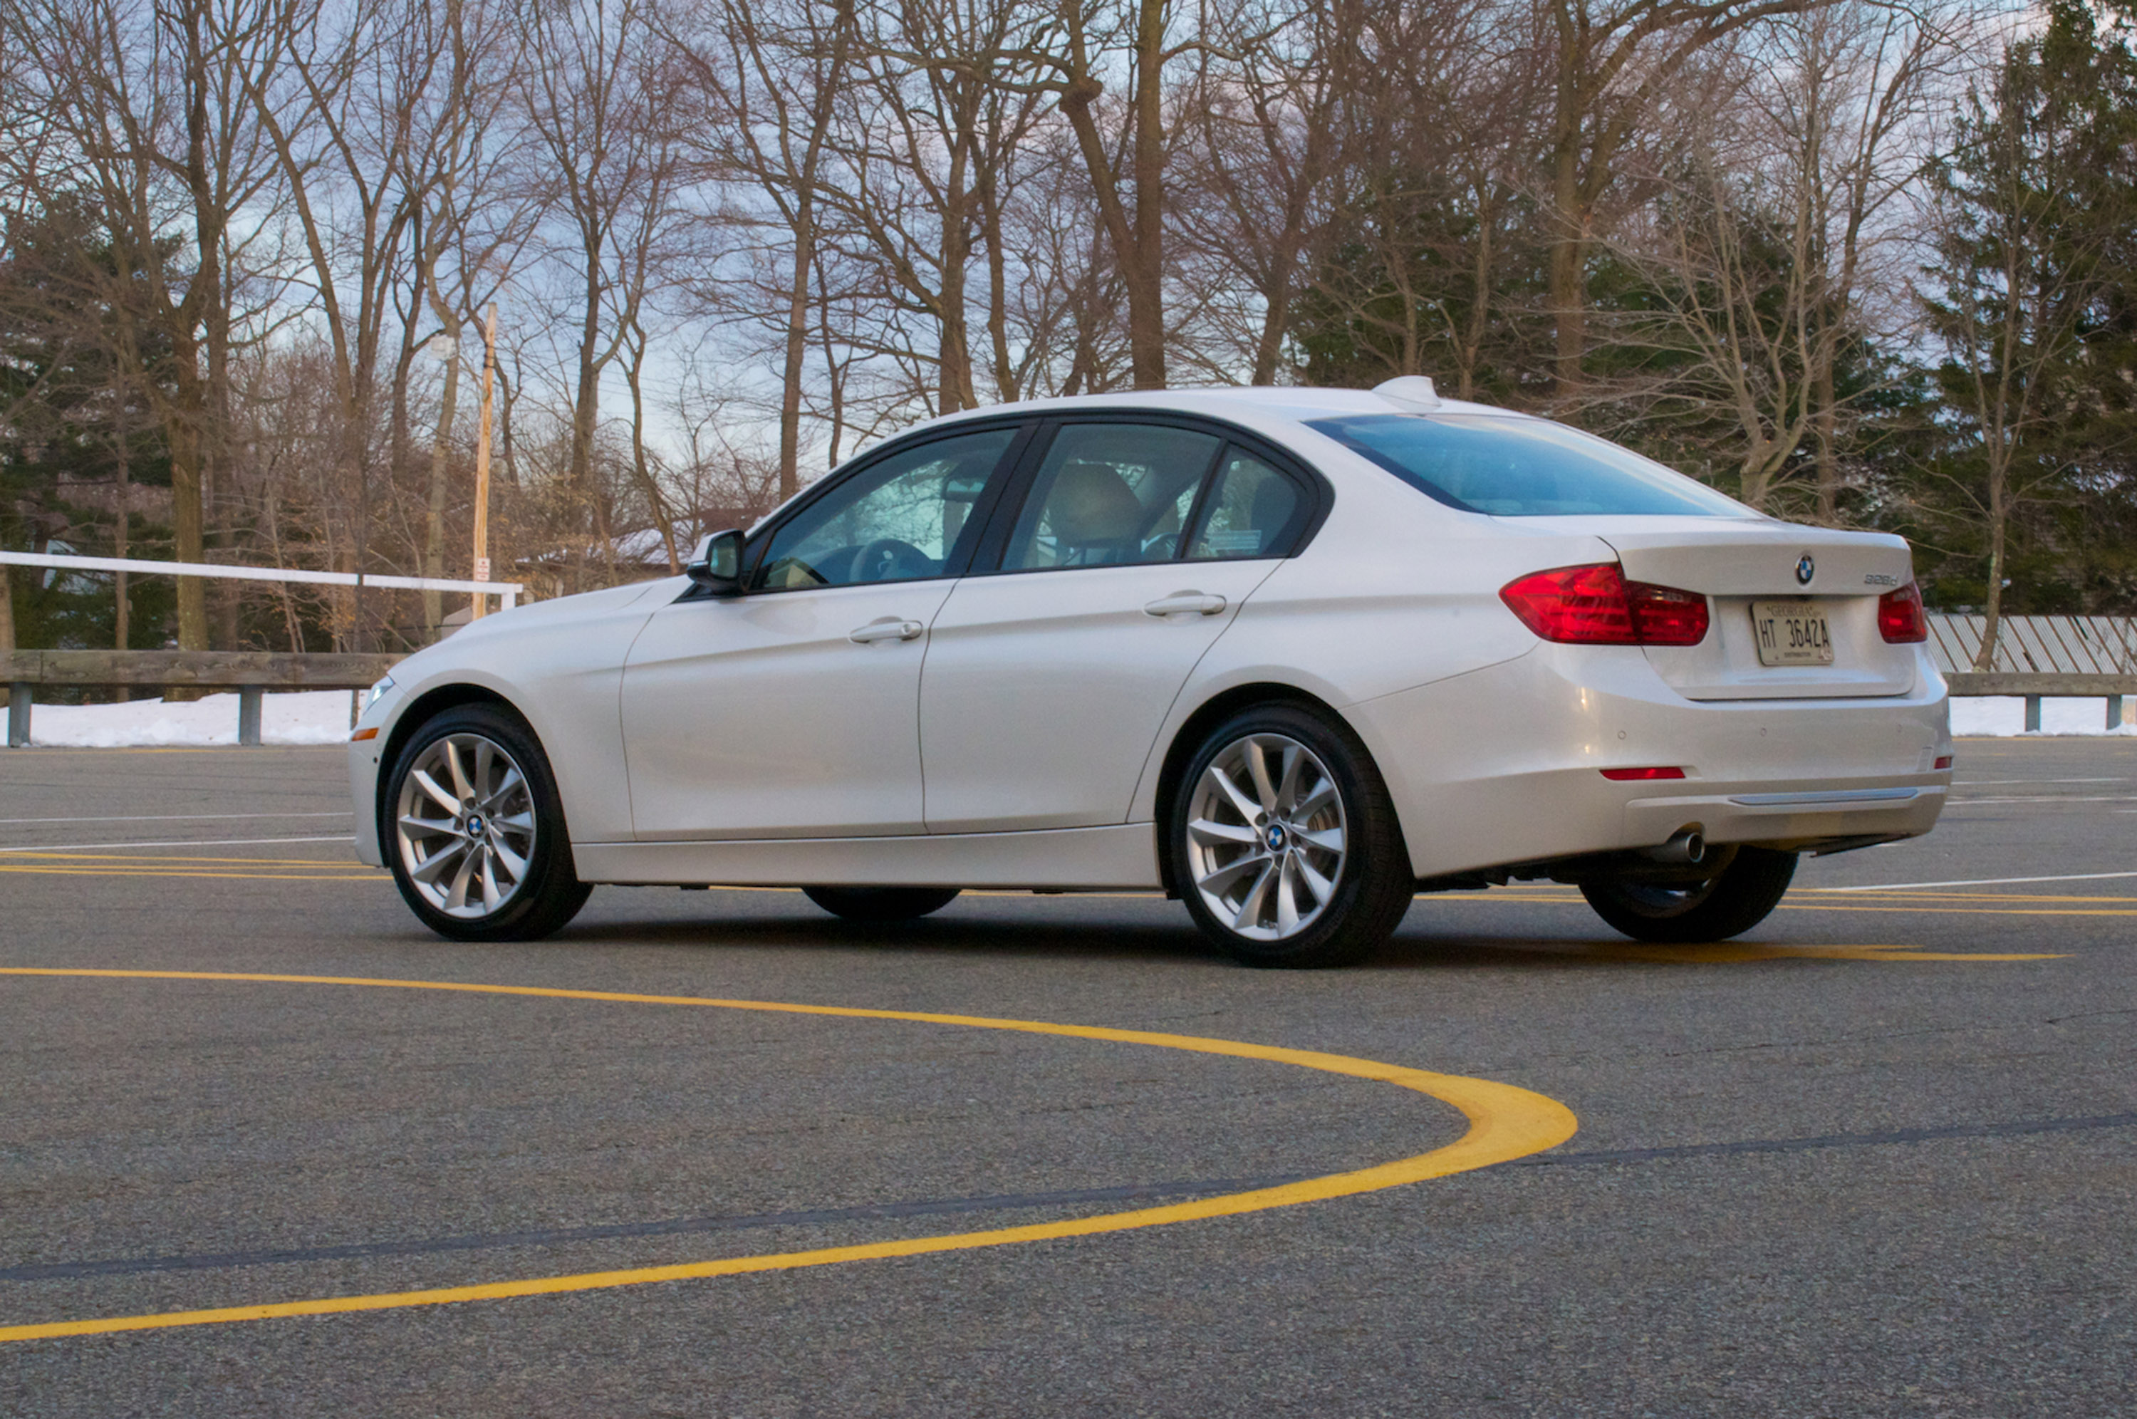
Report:
[{"label": "car's near-side front wheel, black tire with silver multi-spoke rim", "polygon": [[457,705],[430,718],[395,757],[383,804],[393,883],[440,936],[541,940],[586,906],[549,759],[515,714]]}]

